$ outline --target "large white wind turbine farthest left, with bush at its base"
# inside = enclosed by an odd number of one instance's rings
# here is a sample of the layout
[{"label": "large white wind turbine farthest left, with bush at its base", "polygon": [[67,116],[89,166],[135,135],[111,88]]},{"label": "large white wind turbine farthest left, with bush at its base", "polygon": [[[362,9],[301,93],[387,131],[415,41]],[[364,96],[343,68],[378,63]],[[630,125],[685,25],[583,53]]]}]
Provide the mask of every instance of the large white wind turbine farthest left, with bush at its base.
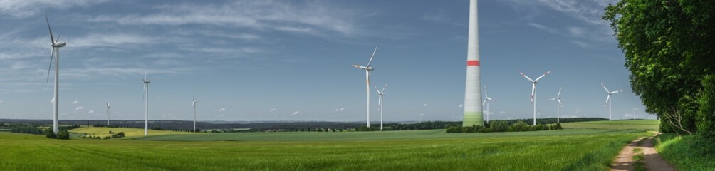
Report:
[{"label": "large white wind turbine farthest left, with bush at its base", "polygon": [[47,68],[47,82],[49,82],[49,72],[52,68],[52,59],[57,59],[57,62],[54,62],[54,115],[52,117],[52,131],[57,133],[59,132],[57,127],[57,117],[59,116],[59,48],[64,47],[65,43],[59,42],[59,36],[57,36],[57,39],[54,39],[47,16],[45,16],[45,20],[47,21],[47,29],[49,30],[49,39],[52,43],[52,51],[49,54],[49,67]]}]

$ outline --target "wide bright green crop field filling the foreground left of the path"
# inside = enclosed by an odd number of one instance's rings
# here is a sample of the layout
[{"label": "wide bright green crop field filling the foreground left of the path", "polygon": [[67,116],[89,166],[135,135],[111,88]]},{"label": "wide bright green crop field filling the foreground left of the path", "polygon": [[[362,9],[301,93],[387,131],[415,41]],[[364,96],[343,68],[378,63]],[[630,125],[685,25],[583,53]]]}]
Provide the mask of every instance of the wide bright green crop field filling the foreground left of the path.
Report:
[{"label": "wide bright green crop field filling the foreground left of the path", "polygon": [[641,125],[461,134],[202,133],[125,140],[50,140],[0,132],[0,170],[608,170],[621,147],[651,135],[633,127]]}]

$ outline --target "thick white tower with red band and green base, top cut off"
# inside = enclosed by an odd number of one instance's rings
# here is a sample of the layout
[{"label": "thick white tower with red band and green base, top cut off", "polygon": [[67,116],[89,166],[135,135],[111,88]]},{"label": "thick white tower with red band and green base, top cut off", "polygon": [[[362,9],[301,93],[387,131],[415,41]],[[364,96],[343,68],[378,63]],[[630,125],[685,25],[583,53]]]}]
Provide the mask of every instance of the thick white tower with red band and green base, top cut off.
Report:
[{"label": "thick white tower with red band and green base, top cut off", "polygon": [[477,0],[469,2],[469,40],[467,44],[467,82],[464,93],[463,127],[484,125],[482,85],[479,73],[479,23]]}]

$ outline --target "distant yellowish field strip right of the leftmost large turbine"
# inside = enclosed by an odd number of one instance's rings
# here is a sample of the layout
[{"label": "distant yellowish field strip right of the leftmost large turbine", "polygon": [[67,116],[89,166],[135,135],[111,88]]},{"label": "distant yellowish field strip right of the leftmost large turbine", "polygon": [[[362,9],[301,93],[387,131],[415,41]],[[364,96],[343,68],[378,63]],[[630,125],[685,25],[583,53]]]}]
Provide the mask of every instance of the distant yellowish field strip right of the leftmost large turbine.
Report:
[{"label": "distant yellowish field strip right of the leftmost large turbine", "polygon": [[[74,130],[70,130],[69,132],[75,133],[75,134],[87,134],[87,136],[92,135],[94,137],[107,137],[111,136],[109,134],[109,131],[114,132],[114,134],[119,133],[119,132],[124,132],[124,136],[127,136],[126,138],[131,138],[131,137],[144,137],[144,129],[135,129],[135,128],[122,128],[122,127],[80,127]],[[197,134],[194,132],[174,132],[174,131],[155,131],[155,130],[149,130],[148,132],[149,135],[181,135],[181,134]]]}]

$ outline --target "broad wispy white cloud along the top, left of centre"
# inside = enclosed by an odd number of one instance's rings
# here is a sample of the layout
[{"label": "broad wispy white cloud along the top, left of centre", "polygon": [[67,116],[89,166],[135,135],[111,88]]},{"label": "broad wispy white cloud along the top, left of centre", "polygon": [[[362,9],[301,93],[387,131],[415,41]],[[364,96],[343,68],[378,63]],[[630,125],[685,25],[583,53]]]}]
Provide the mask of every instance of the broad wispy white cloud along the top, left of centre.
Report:
[{"label": "broad wispy white cloud along the top, left of centre", "polygon": [[[225,4],[171,4],[159,6],[154,14],[101,15],[89,21],[109,21],[123,25],[202,24],[233,26],[259,31],[275,30],[307,34],[361,34],[353,24],[357,12],[325,2],[230,1]],[[247,37],[253,39],[252,37]]]}]

